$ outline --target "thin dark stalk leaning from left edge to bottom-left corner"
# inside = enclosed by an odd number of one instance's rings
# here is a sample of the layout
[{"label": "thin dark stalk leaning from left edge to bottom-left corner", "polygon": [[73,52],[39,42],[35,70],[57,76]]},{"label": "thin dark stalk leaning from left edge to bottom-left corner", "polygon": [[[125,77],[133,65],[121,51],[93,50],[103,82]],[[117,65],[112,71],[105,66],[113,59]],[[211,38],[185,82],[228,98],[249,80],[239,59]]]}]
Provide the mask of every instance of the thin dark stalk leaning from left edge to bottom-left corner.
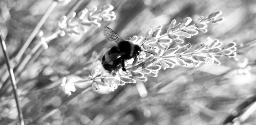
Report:
[{"label": "thin dark stalk leaning from left edge to bottom-left corner", "polygon": [[20,125],[25,125],[24,121],[23,121],[23,116],[22,116],[20,104],[19,104],[19,99],[18,99],[18,93],[17,93],[17,87],[16,87],[16,81],[15,81],[14,72],[11,69],[11,66],[10,66],[9,55],[6,52],[6,45],[5,45],[4,38],[2,37],[1,31],[0,31],[0,41],[1,41],[2,51],[3,51],[4,56],[5,56],[6,65],[7,65],[9,74],[10,74],[10,79],[11,79],[11,83],[12,83],[12,89],[13,89],[13,92],[14,92],[14,97],[15,97],[15,102],[16,102],[17,110],[18,110],[18,117],[19,117],[19,120],[20,120]]}]

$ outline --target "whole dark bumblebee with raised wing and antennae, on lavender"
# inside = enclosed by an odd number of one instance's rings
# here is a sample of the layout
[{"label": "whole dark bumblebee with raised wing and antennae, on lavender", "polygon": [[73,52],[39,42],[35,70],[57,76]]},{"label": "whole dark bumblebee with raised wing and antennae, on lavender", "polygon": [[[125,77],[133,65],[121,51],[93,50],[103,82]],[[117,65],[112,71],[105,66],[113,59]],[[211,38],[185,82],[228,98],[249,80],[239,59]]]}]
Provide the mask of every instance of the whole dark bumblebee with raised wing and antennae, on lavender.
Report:
[{"label": "whole dark bumblebee with raised wing and antennae, on lavender", "polygon": [[124,72],[127,72],[125,68],[125,61],[137,58],[140,52],[143,51],[141,47],[146,42],[146,39],[141,46],[138,46],[128,40],[123,40],[116,34],[116,32],[107,26],[103,27],[103,35],[107,42],[113,44],[113,46],[108,49],[102,57],[103,68],[107,70],[108,73],[118,71],[121,67]]}]

